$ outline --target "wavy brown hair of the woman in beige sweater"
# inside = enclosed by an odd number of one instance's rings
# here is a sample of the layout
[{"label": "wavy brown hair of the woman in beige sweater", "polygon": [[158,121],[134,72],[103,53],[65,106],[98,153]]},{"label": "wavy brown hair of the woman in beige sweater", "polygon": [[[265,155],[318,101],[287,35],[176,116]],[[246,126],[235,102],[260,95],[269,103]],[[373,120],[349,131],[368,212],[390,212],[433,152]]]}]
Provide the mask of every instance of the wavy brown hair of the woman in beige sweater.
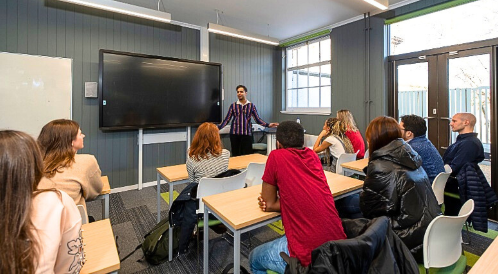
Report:
[{"label": "wavy brown hair of the woman in beige sweater", "polygon": [[71,143],[76,139],[79,129],[78,123],[66,119],[54,120],[41,129],[38,145],[43,155],[44,174],[47,178],[73,164],[76,152]]}]

